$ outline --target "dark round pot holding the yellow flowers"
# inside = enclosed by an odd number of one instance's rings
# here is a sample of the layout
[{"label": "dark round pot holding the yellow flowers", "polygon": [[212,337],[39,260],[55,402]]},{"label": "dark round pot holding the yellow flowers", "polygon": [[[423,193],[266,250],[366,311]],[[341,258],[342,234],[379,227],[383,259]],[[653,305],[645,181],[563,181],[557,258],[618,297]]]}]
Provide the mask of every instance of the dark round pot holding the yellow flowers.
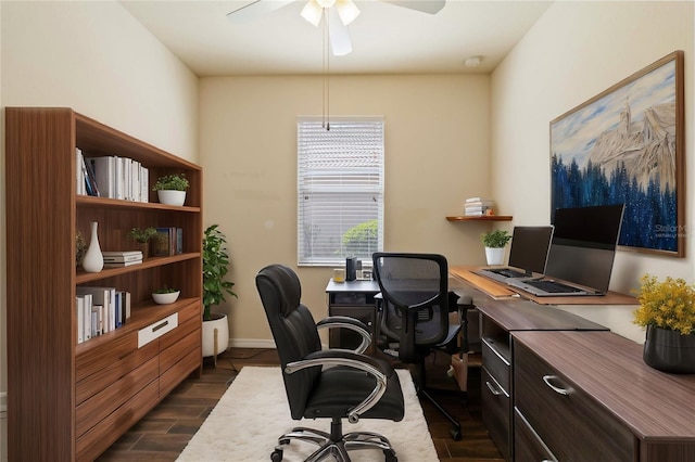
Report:
[{"label": "dark round pot holding the yellow flowers", "polygon": [[647,325],[644,362],[661,372],[695,373],[695,334]]}]

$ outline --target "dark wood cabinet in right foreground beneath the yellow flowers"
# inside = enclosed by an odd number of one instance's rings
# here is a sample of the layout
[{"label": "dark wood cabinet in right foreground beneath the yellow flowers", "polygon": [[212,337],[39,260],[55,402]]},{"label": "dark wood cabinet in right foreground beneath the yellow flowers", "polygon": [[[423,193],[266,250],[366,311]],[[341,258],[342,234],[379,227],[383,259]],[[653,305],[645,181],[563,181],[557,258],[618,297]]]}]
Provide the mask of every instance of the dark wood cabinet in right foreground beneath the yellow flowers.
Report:
[{"label": "dark wood cabinet in right foreground beneath the yellow flowers", "polygon": [[[695,375],[611,332],[514,332],[515,406],[557,460],[695,460]],[[516,460],[528,453],[523,436]]]}]

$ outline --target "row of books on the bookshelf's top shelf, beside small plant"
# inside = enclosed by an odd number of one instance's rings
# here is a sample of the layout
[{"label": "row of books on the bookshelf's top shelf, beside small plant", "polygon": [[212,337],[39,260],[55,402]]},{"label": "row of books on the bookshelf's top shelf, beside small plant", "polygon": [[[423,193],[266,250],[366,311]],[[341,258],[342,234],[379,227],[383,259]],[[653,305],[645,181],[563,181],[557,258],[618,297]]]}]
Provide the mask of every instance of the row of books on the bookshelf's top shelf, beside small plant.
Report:
[{"label": "row of books on the bookshelf's top shelf, beside small plant", "polygon": [[128,157],[87,157],[79,147],[77,194],[122,201],[149,202],[149,170]]}]

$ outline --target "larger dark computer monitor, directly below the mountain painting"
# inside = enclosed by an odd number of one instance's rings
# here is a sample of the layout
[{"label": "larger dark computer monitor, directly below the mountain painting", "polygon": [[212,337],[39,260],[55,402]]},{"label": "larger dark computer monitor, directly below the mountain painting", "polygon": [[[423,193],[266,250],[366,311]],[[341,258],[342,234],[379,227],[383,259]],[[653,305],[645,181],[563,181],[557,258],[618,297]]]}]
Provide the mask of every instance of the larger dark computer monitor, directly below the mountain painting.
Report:
[{"label": "larger dark computer monitor, directly below the mountain painting", "polygon": [[607,292],[624,205],[555,210],[545,274]]}]

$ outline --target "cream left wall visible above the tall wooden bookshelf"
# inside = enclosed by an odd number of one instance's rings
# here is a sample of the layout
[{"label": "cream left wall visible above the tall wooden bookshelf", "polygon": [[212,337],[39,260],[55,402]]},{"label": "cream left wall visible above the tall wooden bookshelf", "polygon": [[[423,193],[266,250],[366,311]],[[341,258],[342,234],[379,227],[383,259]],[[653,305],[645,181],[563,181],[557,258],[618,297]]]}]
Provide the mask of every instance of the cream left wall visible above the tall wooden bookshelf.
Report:
[{"label": "cream left wall visible above the tall wooden bookshelf", "polygon": [[[197,77],[117,2],[0,2],[0,107],[68,106],[198,162]],[[0,113],[4,179],[4,111]],[[2,181],[4,184],[4,181]],[[7,389],[4,185],[0,393]],[[0,420],[0,460],[7,429]]]}]

